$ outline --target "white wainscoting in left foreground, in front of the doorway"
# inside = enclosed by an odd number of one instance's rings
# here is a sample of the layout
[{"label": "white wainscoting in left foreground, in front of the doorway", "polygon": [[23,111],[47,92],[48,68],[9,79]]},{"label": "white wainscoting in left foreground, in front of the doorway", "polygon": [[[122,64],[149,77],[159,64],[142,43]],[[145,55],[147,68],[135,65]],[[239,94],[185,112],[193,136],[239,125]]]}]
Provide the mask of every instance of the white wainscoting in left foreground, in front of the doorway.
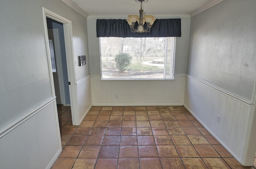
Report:
[{"label": "white wainscoting in left foreground, in front of the doorway", "polygon": [[62,147],[56,100],[43,105],[0,138],[1,169],[50,169],[58,158]]}]

